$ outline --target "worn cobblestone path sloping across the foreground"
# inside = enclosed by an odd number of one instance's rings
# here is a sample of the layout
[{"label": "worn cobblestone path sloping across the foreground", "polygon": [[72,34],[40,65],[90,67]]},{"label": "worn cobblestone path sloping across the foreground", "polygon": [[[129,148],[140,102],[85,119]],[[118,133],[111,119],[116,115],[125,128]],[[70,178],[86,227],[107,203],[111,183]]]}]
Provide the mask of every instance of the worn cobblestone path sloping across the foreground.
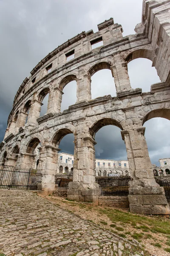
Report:
[{"label": "worn cobblestone path sloping across the foreground", "polygon": [[6,256],[144,255],[131,254],[131,247],[32,192],[0,190],[0,253]]}]

